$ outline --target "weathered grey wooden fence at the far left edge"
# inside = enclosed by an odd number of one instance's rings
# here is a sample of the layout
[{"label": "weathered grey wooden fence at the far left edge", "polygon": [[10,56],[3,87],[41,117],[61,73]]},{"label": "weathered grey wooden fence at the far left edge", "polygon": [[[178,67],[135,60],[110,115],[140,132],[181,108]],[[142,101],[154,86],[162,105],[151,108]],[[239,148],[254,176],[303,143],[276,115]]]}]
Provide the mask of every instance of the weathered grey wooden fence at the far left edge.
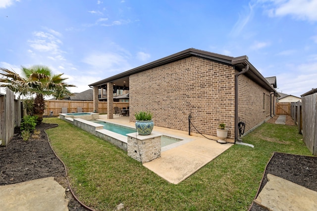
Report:
[{"label": "weathered grey wooden fence at the far left edge", "polygon": [[6,88],[6,94],[0,94],[0,145],[10,143],[14,127],[21,123],[21,100],[14,99],[14,93]]}]

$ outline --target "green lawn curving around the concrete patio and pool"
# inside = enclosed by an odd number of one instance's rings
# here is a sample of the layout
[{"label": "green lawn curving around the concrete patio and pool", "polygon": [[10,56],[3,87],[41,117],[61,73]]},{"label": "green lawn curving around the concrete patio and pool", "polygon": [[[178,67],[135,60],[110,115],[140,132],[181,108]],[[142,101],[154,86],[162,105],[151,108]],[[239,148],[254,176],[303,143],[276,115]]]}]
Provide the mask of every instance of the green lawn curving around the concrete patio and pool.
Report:
[{"label": "green lawn curving around the concrete patio and pool", "polygon": [[76,196],[95,210],[244,211],[250,207],[274,151],[311,155],[297,127],[263,124],[183,182],[171,184],[127,153],[57,118],[47,130]]}]

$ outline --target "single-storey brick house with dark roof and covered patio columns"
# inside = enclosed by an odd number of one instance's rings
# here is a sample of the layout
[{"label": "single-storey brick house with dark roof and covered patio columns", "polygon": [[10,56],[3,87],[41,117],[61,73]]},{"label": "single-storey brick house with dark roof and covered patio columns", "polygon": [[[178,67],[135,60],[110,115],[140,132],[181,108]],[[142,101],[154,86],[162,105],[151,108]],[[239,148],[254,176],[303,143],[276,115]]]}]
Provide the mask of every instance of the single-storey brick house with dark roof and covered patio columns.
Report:
[{"label": "single-storey brick house with dark roof and covered patio columns", "polygon": [[[239,121],[246,124],[246,134],[272,117],[277,96],[247,56],[230,57],[194,48],[89,86],[94,93],[106,88],[107,96],[114,89],[128,87],[130,114],[151,111],[159,127],[188,131],[191,115],[199,132],[215,137],[218,125],[225,123],[229,142],[239,140]],[[97,95],[94,101],[98,111]],[[108,119],[112,119],[112,102],[107,106]],[[135,122],[134,115],[130,122]],[[190,133],[198,134],[194,127]]]}]

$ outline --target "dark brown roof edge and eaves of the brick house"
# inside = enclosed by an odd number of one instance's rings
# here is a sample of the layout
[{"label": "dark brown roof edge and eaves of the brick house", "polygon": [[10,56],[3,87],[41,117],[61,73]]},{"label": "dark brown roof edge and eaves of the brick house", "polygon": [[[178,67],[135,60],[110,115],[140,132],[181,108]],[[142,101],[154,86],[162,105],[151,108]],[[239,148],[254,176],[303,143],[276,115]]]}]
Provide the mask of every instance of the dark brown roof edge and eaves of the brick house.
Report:
[{"label": "dark brown roof edge and eaves of the brick house", "polygon": [[168,63],[178,61],[180,59],[188,58],[191,56],[197,56],[203,59],[208,59],[208,60],[222,63],[225,65],[234,66],[235,69],[238,70],[239,72],[241,72],[246,67],[246,65],[249,65],[249,71],[246,72],[245,75],[251,78],[252,80],[256,81],[258,84],[261,84],[267,90],[275,91],[275,89],[271,86],[271,84],[269,84],[266,81],[266,79],[259,73],[259,71],[248,61],[247,56],[231,57],[231,56],[221,55],[217,53],[212,53],[209,51],[198,50],[195,48],[189,48],[189,49],[183,50],[181,52],[150,62],[140,67],[106,78],[99,82],[89,84],[89,86],[90,87],[92,86],[106,87],[106,84],[109,82],[114,82],[115,80],[128,77],[132,74],[143,72],[145,70],[159,67],[161,65],[168,64]]}]

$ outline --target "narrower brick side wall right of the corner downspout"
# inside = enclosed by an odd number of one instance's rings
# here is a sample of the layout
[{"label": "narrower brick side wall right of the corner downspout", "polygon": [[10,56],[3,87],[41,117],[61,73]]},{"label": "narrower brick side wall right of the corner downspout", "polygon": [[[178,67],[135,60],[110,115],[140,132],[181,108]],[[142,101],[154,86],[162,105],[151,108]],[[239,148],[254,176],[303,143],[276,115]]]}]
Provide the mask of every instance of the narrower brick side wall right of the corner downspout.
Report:
[{"label": "narrower brick side wall right of the corner downspout", "polygon": [[271,96],[269,91],[245,75],[238,77],[238,84],[238,116],[240,121],[246,124],[245,131],[247,131],[270,116]]}]

